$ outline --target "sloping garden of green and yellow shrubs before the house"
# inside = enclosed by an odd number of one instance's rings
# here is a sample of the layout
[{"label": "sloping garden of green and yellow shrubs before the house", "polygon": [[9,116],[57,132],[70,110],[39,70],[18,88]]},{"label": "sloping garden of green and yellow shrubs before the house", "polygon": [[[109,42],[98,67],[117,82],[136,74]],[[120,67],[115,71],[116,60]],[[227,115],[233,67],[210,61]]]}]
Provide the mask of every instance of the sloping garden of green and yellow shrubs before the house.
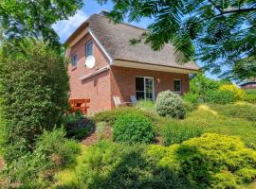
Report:
[{"label": "sloping garden of green and yellow shrubs before the house", "polygon": [[82,139],[56,187],[255,188],[255,94],[202,75],[191,86],[87,117],[97,140]]}]

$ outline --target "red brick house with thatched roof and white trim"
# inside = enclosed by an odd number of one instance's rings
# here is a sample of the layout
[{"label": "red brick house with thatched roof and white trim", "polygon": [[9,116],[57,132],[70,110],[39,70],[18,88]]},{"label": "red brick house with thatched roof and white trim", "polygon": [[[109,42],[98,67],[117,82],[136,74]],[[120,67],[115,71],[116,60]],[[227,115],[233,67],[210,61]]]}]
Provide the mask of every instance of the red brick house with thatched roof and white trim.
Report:
[{"label": "red brick house with thatched roof and white trim", "polygon": [[[130,40],[145,29],[128,24],[114,25],[101,14],[91,15],[66,40],[70,76],[70,98],[90,99],[89,112],[116,107],[113,96],[121,102],[137,99],[155,100],[159,92],[178,94],[190,89],[189,74],[198,72],[194,62],[180,65],[174,60],[174,46],[166,44],[153,51],[148,44],[131,45]],[[95,66],[84,61],[93,55]]]}]

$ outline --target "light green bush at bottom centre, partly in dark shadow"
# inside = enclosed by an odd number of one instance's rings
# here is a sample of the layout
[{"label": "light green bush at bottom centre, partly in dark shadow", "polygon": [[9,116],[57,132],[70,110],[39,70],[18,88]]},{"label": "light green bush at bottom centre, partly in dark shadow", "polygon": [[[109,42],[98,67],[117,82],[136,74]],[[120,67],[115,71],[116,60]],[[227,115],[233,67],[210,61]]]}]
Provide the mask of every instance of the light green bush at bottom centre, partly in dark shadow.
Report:
[{"label": "light green bush at bottom centre, partly in dark shadow", "polygon": [[157,166],[141,145],[101,142],[87,149],[77,170],[79,188],[189,188],[183,178]]}]

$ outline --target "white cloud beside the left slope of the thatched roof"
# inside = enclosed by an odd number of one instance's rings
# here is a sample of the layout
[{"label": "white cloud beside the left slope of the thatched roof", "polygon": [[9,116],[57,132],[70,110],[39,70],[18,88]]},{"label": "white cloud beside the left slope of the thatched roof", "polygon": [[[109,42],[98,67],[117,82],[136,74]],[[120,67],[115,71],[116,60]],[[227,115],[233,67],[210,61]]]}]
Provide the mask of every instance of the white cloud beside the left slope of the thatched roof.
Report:
[{"label": "white cloud beside the left slope of the thatched roof", "polygon": [[60,36],[61,42],[63,43],[87,18],[86,13],[79,10],[74,16],[69,17],[68,20],[59,21],[52,27]]}]

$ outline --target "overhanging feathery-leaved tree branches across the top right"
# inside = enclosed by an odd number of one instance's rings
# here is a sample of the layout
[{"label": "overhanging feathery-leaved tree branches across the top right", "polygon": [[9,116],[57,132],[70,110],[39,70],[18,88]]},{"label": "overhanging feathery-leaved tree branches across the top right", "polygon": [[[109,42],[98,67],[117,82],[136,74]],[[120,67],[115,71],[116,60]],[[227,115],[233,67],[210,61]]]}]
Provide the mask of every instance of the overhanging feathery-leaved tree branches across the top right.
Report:
[{"label": "overhanging feathery-leaved tree branches across the top right", "polygon": [[[255,0],[112,0],[108,16],[121,22],[153,19],[149,32],[131,43],[150,43],[159,50],[173,43],[179,62],[196,59],[215,74],[245,58],[256,57]],[[98,0],[106,3],[107,0]]]}]

